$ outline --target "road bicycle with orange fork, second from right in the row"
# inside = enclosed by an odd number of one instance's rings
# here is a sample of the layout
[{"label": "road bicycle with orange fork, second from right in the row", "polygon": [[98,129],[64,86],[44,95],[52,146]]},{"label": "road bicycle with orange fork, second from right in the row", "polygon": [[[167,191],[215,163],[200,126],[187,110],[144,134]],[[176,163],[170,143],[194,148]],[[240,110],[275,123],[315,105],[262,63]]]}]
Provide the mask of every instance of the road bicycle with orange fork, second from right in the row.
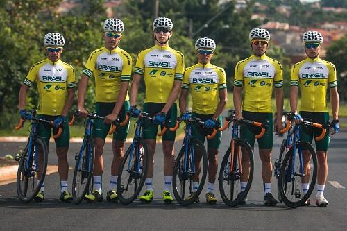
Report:
[{"label": "road bicycle with orange fork, second from right in the row", "polygon": [[[235,207],[245,200],[249,189],[251,189],[254,171],[253,150],[248,142],[239,138],[239,125],[248,124],[260,127],[260,133],[255,135],[256,139],[264,135],[269,125],[267,121],[266,123],[259,123],[246,119],[236,119],[235,110],[229,112],[230,115],[225,118],[223,127],[219,129],[226,130],[233,123],[230,146],[221,162],[218,181],[223,202],[230,207]],[[241,190],[241,180],[247,182],[246,187],[243,187],[244,191]]]}]

